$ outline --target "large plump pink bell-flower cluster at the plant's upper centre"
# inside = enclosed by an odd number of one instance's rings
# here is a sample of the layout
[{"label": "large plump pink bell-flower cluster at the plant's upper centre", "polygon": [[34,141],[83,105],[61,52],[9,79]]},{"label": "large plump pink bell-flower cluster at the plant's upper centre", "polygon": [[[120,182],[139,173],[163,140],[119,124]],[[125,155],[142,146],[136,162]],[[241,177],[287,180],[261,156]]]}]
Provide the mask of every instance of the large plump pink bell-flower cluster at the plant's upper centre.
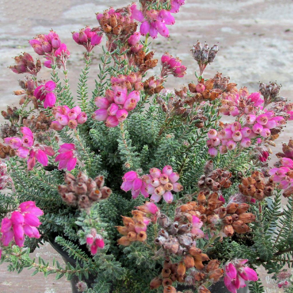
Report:
[{"label": "large plump pink bell-flower cluster at the plant's upper centre", "polygon": [[[116,82],[120,82],[124,76],[112,78],[112,84],[114,79]],[[96,97],[95,104],[99,109],[94,112],[92,118],[105,121],[107,127],[115,127],[127,118],[128,112],[136,107],[139,99],[139,91],[134,90],[127,93],[125,86],[112,85],[112,90],[108,89],[105,97]]]}]

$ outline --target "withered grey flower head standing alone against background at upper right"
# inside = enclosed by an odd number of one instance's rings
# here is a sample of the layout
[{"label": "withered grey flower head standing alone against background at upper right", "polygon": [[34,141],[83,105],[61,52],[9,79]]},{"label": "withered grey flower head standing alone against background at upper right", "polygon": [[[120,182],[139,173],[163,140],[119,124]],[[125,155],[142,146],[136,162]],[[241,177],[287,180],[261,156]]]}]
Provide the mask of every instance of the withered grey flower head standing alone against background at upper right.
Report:
[{"label": "withered grey flower head standing alone against background at upper right", "polygon": [[204,46],[202,46],[202,44],[198,41],[196,45],[193,45],[191,52],[193,58],[200,67],[200,76],[202,76],[203,72],[205,71],[207,64],[214,61],[218,51],[219,49],[217,45],[213,45],[209,49],[209,45],[206,42]]}]

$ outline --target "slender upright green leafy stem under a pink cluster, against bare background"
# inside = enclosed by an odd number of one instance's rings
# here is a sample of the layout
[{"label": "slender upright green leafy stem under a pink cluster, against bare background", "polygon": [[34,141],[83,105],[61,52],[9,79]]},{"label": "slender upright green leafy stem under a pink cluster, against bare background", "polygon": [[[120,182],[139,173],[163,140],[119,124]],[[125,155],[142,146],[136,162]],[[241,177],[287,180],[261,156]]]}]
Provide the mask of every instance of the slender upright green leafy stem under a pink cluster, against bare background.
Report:
[{"label": "slender upright green leafy stem under a pink cluster, against bare background", "polygon": [[87,88],[87,80],[88,80],[88,71],[90,69],[89,65],[91,64],[91,52],[85,53],[85,67],[82,69],[80,75],[80,83],[78,84],[77,94],[79,99],[79,105],[82,111],[86,112],[88,106],[88,88]]}]

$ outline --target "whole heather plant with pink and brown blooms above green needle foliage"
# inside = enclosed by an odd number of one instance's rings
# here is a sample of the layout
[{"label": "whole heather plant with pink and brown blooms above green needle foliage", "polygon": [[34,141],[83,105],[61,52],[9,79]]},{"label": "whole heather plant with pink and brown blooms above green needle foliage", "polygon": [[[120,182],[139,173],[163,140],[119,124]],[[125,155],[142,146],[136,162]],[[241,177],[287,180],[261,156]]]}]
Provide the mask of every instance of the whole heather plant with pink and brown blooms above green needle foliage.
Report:
[{"label": "whole heather plant with pink and brown blooms above green needle foliage", "polygon": [[[204,76],[218,46],[198,41],[199,75],[167,90],[186,67],[168,52],[157,57],[150,39],[169,36],[183,4],[111,7],[96,14],[97,27],[73,32],[86,50],[76,95],[70,52],[53,30],[29,41],[42,59],[14,58],[10,69],[26,75],[19,107],[2,111],[0,255],[8,270],[77,277],[88,293],[209,293],[221,280],[232,293],[261,293],[263,267],[291,292],[293,141],[273,168],[269,160],[293,104],[276,83],[250,93],[219,72]],[[73,261],[31,258],[45,241]]]}]

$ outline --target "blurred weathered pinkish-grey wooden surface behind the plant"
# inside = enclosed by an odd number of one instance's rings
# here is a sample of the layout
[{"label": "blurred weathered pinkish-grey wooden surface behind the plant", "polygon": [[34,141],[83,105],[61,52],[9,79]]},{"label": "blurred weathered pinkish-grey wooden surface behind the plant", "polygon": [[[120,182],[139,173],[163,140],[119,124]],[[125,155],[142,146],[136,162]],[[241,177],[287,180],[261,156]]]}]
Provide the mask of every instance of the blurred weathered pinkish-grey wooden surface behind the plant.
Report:
[{"label": "blurred weathered pinkish-grey wooden surface behind the plant", "polygon": [[[83,47],[71,38],[72,31],[89,25],[97,26],[96,12],[113,6],[119,8],[130,2],[126,0],[0,0],[0,110],[6,106],[18,106],[18,96],[13,91],[20,89],[18,80],[24,75],[14,74],[7,67],[14,64],[11,57],[28,52],[38,56],[29,46],[28,40],[37,34],[47,34],[53,29],[59,34],[69,51],[69,83],[76,96],[76,84],[83,67]],[[187,66],[184,78],[171,76],[168,88],[180,88],[195,81],[194,71],[198,70],[190,49],[199,40],[210,45],[218,43],[219,52],[215,61],[205,71],[205,78],[213,77],[219,71],[230,76],[238,87],[247,86],[250,92],[258,91],[259,82],[277,81],[282,84],[281,96],[293,102],[293,1],[292,0],[186,0],[180,12],[175,15],[175,25],[169,26],[170,38],[159,36],[151,44],[160,58],[168,51],[182,59]],[[98,73],[100,47],[93,50],[89,74],[89,90],[94,87]],[[42,59],[42,57],[40,58]],[[159,67],[159,66],[158,66]],[[159,68],[154,70],[154,74]],[[39,78],[50,78],[50,70],[43,67]],[[62,73],[60,73],[62,78]],[[3,123],[0,117],[0,123]],[[293,131],[289,125],[277,140],[277,148],[287,142]],[[285,203],[285,202],[284,202]],[[32,256],[42,255],[50,260],[58,254],[48,243],[36,249]],[[60,260],[60,258],[59,258]],[[62,262],[62,260],[60,260]],[[30,276],[33,271],[23,270],[20,275],[7,272],[6,264],[0,266],[0,293],[70,293],[70,284],[64,278],[55,281],[54,275],[47,279],[40,273]],[[270,276],[259,271],[266,292],[280,291]]]}]

